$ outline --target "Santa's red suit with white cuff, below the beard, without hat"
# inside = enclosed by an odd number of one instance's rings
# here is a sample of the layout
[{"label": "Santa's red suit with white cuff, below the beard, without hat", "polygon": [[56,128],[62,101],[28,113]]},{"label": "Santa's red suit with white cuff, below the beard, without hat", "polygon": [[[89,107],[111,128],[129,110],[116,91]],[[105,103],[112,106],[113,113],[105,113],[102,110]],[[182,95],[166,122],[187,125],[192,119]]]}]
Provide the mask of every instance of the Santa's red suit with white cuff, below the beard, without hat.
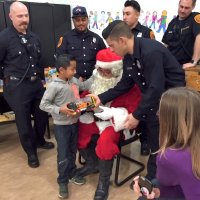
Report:
[{"label": "Santa's red suit with white cuff, below the beard, without hat", "polygon": [[[81,116],[79,122],[78,148],[87,148],[92,135],[100,134],[96,145],[96,154],[99,159],[110,160],[117,155],[119,153],[119,131],[123,128],[119,127],[116,121],[118,119],[122,121],[122,118],[124,119],[128,113],[132,113],[138,106],[140,98],[140,90],[135,85],[129,92],[117,97],[110,103],[111,108],[117,109],[109,121],[94,121],[92,113],[86,113]],[[117,129],[120,130],[116,131]],[[128,133],[127,131],[125,138],[129,137]]]}]

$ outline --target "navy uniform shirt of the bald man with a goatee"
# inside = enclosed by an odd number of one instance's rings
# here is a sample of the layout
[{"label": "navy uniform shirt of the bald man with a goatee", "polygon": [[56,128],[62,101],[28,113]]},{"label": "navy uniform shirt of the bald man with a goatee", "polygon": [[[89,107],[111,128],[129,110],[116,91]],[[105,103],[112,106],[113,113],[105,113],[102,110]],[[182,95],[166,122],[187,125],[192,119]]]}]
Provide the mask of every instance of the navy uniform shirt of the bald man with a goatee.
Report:
[{"label": "navy uniform shirt of the bald man with a goatee", "polygon": [[43,68],[39,65],[40,54],[40,40],[34,33],[28,31],[23,35],[13,26],[0,32],[0,66],[4,68],[4,77],[21,78],[29,67],[27,78],[37,75],[43,78]]}]

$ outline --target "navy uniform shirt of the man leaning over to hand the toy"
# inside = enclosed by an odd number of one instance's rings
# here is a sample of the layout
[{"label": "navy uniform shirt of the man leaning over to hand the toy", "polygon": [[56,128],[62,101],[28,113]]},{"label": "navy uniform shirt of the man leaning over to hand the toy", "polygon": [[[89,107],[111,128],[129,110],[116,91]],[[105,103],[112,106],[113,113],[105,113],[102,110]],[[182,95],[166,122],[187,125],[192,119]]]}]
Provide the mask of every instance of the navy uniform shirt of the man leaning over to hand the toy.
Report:
[{"label": "navy uniform shirt of the man leaning over to hand the toy", "polygon": [[123,75],[112,89],[99,95],[104,104],[127,92],[137,84],[142,99],[133,116],[146,120],[158,110],[162,93],[171,87],[185,86],[185,73],[175,57],[161,43],[134,37],[134,55],[123,60]]}]

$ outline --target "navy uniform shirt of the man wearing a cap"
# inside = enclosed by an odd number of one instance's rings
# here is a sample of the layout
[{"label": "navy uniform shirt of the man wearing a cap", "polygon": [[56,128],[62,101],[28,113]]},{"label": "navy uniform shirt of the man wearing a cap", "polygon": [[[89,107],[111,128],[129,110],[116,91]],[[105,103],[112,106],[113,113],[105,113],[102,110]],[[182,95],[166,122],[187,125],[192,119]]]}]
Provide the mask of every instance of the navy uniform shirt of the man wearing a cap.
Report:
[{"label": "navy uniform shirt of the man wearing a cap", "polygon": [[73,55],[77,60],[77,77],[88,79],[94,70],[97,52],[105,48],[103,39],[96,33],[90,30],[81,33],[73,29],[60,38],[56,53]]}]

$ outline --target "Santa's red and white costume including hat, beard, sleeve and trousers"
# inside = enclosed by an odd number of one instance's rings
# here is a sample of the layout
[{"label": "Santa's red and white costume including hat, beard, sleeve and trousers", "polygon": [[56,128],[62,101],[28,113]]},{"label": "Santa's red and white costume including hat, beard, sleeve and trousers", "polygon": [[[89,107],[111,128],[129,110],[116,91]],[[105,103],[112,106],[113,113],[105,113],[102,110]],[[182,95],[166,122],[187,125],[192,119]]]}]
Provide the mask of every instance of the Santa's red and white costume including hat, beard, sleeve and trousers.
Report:
[{"label": "Santa's red and white costume including hat, beard, sleeve and trousers", "polygon": [[[96,69],[91,77],[93,84],[89,92],[98,95],[114,87],[121,79],[122,66],[122,58],[120,56],[111,52],[109,48],[101,50],[97,54]],[[102,69],[109,70],[112,76],[106,77]],[[113,116],[110,119],[106,121],[95,121],[93,113],[83,114],[79,122],[78,149],[86,149],[91,141],[92,135],[100,134],[96,145],[96,154],[103,160],[112,159],[119,153],[119,131],[123,129],[123,121],[128,113],[132,113],[136,109],[140,98],[140,89],[135,85],[126,94],[106,104],[107,107],[112,108],[109,113],[113,111]]]}]

